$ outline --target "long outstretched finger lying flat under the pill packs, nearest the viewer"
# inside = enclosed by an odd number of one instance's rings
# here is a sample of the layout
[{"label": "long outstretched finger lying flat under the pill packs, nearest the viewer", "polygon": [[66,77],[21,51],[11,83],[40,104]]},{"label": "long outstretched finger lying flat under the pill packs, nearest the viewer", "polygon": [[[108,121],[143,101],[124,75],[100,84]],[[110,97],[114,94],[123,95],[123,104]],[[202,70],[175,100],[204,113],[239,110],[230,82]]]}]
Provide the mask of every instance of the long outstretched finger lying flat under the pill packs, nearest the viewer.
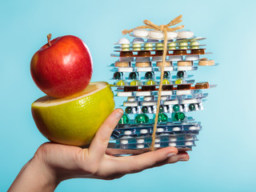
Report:
[{"label": "long outstretched finger lying flat under the pill packs, nearest the viewer", "polygon": [[117,174],[137,173],[176,154],[178,154],[178,149],[169,146],[160,150],[150,151],[145,154],[115,158],[116,161],[114,162],[114,166],[111,168],[114,169]]}]

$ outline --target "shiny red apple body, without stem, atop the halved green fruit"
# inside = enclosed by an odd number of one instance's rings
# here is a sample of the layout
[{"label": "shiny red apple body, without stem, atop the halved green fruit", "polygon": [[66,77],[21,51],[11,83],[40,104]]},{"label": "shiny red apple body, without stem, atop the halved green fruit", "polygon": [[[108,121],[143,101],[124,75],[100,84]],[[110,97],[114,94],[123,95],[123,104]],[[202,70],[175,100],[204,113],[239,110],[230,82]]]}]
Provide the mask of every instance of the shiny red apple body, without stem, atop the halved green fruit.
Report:
[{"label": "shiny red apple body, without stem, atop the halved green fruit", "polygon": [[54,98],[78,94],[88,86],[93,72],[90,50],[80,38],[54,38],[30,62],[31,76],[42,92]]}]

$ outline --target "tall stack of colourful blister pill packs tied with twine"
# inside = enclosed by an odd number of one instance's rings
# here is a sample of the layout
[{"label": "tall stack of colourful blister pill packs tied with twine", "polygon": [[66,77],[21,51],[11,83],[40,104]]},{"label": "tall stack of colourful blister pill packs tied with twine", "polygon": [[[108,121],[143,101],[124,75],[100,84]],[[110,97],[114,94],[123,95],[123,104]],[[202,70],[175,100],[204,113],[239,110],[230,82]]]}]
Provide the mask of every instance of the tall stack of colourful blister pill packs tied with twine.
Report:
[{"label": "tall stack of colourful blister pill packs tied with twine", "polygon": [[167,33],[166,62],[162,62],[163,33],[157,30],[134,30],[132,41],[121,38],[114,44],[110,65],[114,94],[124,98],[124,114],[114,129],[110,148],[146,151],[150,149],[157,111],[161,68],[164,65],[162,96],[154,147],[175,146],[191,150],[202,130],[191,112],[203,110],[208,82],[195,82],[193,70],[217,66],[206,58],[206,45],[190,30]]}]

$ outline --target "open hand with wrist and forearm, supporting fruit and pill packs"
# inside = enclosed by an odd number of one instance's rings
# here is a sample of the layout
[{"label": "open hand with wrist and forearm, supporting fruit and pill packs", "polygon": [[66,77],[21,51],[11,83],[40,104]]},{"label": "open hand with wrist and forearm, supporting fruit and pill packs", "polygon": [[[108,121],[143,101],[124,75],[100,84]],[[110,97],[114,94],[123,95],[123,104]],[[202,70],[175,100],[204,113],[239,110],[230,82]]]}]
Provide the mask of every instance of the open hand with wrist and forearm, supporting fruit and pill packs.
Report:
[{"label": "open hand with wrist and forearm, supporting fruit and pill packs", "polygon": [[[122,110],[117,109],[106,118],[89,148],[82,149],[78,146],[66,146],[53,142],[42,144],[34,154],[34,158],[22,168],[10,187],[10,191],[15,191],[14,189],[30,191],[28,188],[31,187],[31,183],[38,185],[34,186],[34,190],[52,191],[58,186],[58,183],[69,178],[110,180],[154,166],[189,160],[189,155],[186,152],[178,153],[175,147],[166,147],[125,157],[116,157],[108,153],[107,146],[110,135],[122,114]],[[22,181],[22,178],[23,180],[26,178],[26,174],[30,174],[30,179],[40,179],[40,183],[30,182],[26,185],[26,182],[19,182]],[[23,188],[17,188],[17,186]]]}]

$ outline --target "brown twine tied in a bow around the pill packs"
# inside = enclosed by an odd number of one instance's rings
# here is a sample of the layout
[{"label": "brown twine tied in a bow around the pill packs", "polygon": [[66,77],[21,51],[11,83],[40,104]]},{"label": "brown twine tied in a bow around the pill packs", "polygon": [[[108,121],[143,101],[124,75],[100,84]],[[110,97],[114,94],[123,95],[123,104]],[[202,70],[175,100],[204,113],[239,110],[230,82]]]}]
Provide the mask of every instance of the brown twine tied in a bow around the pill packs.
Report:
[{"label": "brown twine tied in a bow around the pill packs", "polygon": [[160,107],[161,94],[162,94],[162,80],[163,80],[163,74],[164,74],[164,70],[165,70],[166,54],[167,54],[167,32],[181,30],[184,26],[176,26],[176,27],[170,28],[170,26],[175,26],[179,22],[182,22],[181,18],[182,18],[182,15],[179,15],[177,18],[174,18],[173,20],[171,20],[167,25],[160,25],[160,26],[155,25],[153,22],[150,22],[149,20],[144,20],[143,22],[146,26],[137,26],[134,29],[122,31],[122,34],[130,34],[134,30],[138,30],[138,29],[151,29],[151,30],[160,30],[163,32],[163,35],[164,35],[161,78],[160,78],[160,85],[159,85],[159,89],[158,89],[157,111],[156,111],[155,118],[154,118],[154,130],[153,130],[152,142],[151,142],[151,146],[150,146],[151,150],[154,150],[155,134],[156,134],[157,126],[158,126],[158,114],[159,114],[159,107]]}]

